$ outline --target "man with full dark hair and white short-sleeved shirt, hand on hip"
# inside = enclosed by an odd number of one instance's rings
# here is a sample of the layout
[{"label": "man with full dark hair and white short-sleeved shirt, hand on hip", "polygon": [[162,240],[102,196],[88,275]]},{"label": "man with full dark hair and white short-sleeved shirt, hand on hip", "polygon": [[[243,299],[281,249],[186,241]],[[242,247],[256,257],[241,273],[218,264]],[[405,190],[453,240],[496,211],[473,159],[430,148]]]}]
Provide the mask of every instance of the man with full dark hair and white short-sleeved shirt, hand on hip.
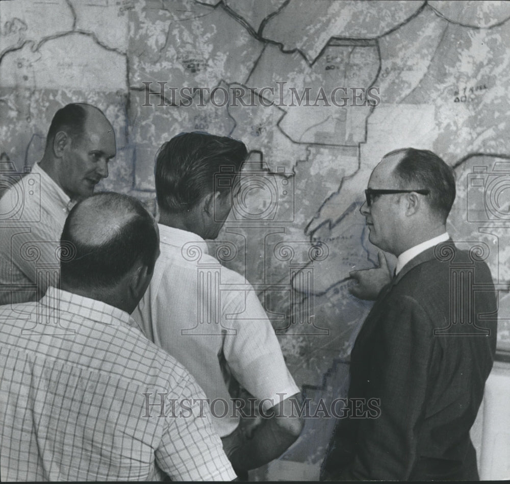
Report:
[{"label": "man with full dark hair and white short-sleeved shirt, hand on hip", "polygon": [[[155,173],[161,256],[133,313],[145,335],[175,356],[205,391],[225,452],[240,474],[281,455],[303,425],[292,404],[299,389],[251,285],[221,267],[217,295],[202,284],[196,260],[187,257],[191,245],[202,252],[202,267],[219,265],[204,239],[217,238],[231,211],[232,187],[246,156],[240,141],[197,132],[160,148]],[[217,175],[222,182],[215,184]],[[272,414],[249,436],[240,415],[251,411],[239,411],[229,392],[236,383]]]}]

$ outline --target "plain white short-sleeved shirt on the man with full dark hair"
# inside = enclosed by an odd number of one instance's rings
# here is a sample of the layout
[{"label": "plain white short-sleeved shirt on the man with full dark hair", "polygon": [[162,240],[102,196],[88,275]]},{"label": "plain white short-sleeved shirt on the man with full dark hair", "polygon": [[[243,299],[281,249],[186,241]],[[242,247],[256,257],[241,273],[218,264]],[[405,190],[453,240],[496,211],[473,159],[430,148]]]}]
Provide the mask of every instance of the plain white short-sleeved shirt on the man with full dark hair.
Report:
[{"label": "plain white short-sleeved shirt on the man with full dark hair", "polygon": [[162,224],[159,230],[161,255],[133,317],[148,339],[196,378],[214,405],[218,434],[225,437],[239,424],[229,392],[236,381],[264,400],[265,410],[299,388],[246,279],[210,256],[198,235]]}]

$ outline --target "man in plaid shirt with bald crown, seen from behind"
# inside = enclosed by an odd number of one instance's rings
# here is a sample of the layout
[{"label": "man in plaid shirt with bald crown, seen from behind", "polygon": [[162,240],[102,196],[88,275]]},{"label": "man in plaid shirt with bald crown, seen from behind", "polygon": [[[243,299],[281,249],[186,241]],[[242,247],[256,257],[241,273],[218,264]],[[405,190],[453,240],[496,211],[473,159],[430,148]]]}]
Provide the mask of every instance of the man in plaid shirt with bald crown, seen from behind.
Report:
[{"label": "man in plaid shirt with bald crown, seen from behind", "polygon": [[61,244],[61,289],[0,307],[2,479],[235,478],[196,381],[130,317],[159,253],[154,219],[101,193],[71,210]]}]

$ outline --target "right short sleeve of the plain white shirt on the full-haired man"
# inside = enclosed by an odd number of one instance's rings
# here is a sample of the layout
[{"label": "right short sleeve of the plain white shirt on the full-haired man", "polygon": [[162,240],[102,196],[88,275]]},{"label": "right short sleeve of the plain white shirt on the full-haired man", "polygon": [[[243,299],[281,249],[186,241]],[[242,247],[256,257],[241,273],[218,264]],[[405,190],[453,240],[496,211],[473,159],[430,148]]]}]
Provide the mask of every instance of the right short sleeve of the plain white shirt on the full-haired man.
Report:
[{"label": "right short sleeve of the plain white shirt on the full-haired man", "polygon": [[223,351],[236,380],[262,401],[264,410],[299,393],[282,349],[252,286],[234,287],[222,307],[224,324],[236,329],[225,336]]}]

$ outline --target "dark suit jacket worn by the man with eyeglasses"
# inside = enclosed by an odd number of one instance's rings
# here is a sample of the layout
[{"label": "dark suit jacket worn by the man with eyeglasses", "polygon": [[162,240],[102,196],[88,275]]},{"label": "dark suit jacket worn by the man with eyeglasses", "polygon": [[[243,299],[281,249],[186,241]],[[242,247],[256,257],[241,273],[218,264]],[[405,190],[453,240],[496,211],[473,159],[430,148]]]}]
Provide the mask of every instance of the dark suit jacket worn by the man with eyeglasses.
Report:
[{"label": "dark suit jacket worn by the man with eyeglasses", "polygon": [[381,290],[351,353],[349,398],[380,399],[380,412],[339,420],[323,472],[478,479],[469,430],[493,364],[496,311],[489,268],[451,241],[407,263]]}]

